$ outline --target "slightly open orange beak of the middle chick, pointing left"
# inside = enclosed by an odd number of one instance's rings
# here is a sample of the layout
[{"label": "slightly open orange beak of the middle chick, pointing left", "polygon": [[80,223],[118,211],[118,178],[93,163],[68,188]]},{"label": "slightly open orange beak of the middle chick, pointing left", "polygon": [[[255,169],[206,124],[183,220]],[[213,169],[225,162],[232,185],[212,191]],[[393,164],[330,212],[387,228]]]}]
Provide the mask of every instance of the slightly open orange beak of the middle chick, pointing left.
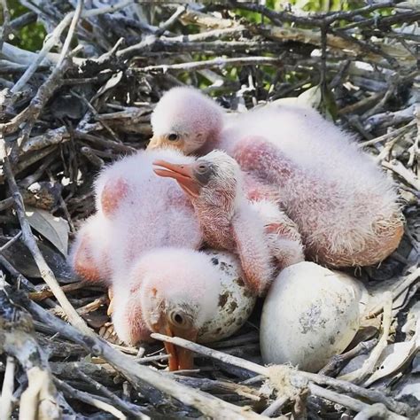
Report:
[{"label": "slightly open orange beak of the middle chick, pointing left", "polygon": [[188,195],[193,198],[198,197],[201,185],[194,175],[194,163],[175,165],[175,163],[169,163],[165,160],[155,160],[153,165],[163,168],[155,167],[153,171],[156,175],[174,178]]}]

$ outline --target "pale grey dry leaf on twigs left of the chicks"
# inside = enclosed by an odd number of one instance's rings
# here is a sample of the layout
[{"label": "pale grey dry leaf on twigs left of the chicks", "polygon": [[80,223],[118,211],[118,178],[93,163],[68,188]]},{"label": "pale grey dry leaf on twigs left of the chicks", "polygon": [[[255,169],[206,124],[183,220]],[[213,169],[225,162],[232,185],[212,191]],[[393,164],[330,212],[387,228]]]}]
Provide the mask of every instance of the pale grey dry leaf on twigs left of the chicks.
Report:
[{"label": "pale grey dry leaf on twigs left of the chicks", "polygon": [[27,221],[43,237],[55,245],[60,253],[67,255],[68,223],[40,208],[27,207]]}]

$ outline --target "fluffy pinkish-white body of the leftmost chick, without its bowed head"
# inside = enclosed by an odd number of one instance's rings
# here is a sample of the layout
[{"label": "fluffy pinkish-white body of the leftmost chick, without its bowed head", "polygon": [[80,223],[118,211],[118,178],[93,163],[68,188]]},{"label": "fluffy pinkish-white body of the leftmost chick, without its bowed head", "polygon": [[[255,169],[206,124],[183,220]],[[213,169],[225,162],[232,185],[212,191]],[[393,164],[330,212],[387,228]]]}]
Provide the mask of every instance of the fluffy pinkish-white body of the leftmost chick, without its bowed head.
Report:
[{"label": "fluffy pinkish-white body of the leftmost chick, without its bowed head", "polygon": [[191,201],[173,182],[153,174],[155,159],[194,161],[176,151],[143,151],[113,163],[98,176],[97,214],[78,232],[71,253],[74,271],[83,278],[106,280],[122,274],[156,247],[198,249],[202,244]]}]

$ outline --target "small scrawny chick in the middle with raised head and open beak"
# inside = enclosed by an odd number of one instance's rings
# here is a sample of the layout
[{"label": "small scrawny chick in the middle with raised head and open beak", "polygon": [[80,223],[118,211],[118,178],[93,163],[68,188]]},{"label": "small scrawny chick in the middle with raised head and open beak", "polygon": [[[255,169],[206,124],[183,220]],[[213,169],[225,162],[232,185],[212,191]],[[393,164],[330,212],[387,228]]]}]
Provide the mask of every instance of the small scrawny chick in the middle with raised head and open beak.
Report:
[{"label": "small scrawny chick in the middle with raised head and open beak", "polygon": [[294,223],[274,203],[245,198],[242,172],[225,152],[191,164],[160,159],[154,165],[157,175],[174,178],[191,198],[206,243],[238,254],[253,291],[266,292],[274,278],[273,257],[281,268],[304,260]]}]

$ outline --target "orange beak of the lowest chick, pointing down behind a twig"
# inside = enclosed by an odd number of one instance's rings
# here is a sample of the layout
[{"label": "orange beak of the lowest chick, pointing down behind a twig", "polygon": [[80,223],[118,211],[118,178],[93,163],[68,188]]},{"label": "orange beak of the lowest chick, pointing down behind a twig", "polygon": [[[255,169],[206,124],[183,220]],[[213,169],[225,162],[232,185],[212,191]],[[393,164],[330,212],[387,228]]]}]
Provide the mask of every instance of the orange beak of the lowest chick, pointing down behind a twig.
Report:
[{"label": "orange beak of the lowest chick, pointing down behind a twig", "polygon": [[[158,332],[169,337],[181,337],[190,341],[196,341],[198,331],[194,328],[182,330],[176,328],[174,325],[167,323],[165,316],[160,318],[163,322],[159,322]],[[194,356],[190,350],[183,347],[175,346],[172,343],[165,343],[165,350],[169,355],[169,370],[192,369],[194,367]]]}]

